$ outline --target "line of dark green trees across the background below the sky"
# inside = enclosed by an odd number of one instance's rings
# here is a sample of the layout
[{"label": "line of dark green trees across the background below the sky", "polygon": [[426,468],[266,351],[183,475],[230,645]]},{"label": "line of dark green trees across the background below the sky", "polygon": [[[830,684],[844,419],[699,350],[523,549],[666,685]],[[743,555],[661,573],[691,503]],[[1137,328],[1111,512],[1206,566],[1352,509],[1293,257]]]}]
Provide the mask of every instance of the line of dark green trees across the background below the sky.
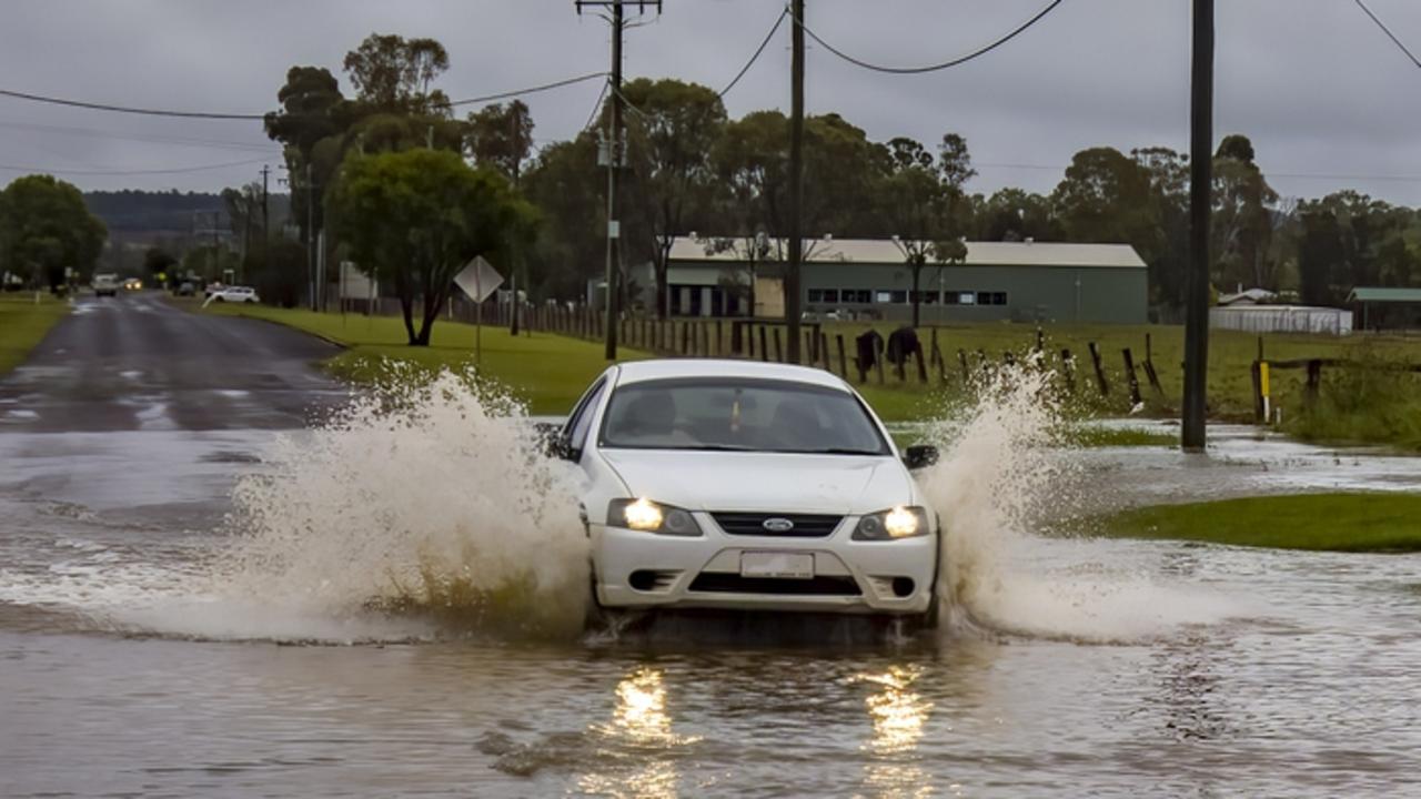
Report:
[{"label": "line of dark green trees across the background below the sky", "polygon": [[[263,296],[294,304],[310,293],[306,274],[317,230],[325,232],[327,263],[352,259],[395,290],[416,343],[428,340],[423,323],[432,320],[422,311],[448,296],[449,279],[475,254],[489,256],[504,274],[516,272],[534,300],[585,296],[587,281],[604,269],[605,169],[598,151],[610,100],[576,136],[539,148],[527,105],[513,100],[462,112],[436,85],[448,68],[449,54],[436,40],[371,34],[342,61],[350,94],[324,67],[288,70],[277,91],[280,109],[266,117],[264,129],[283,145],[290,208],[280,219],[298,240],[266,229],[280,223],[260,213],[259,183],[223,192],[233,237],[247,253],[233,267]],[[649,263],[658,300],[645,311],[665,314],[671,243],[691,232],[703,235],[708,247],[735,249],[772,272],[783,259],[779,242],[787,229],[789,119],[774,109],[732,118],[718,92],[675,78],[632,80],[621,95],[624,299],[637,289],[631,267]],[[1216,289],[1256,286],[1337,304],[1358,284],[1421,284],[1417,210],[1351,191],[1282,198],[1242,135],[1225,136],[1214,159]],[[925,264],[961,259],[963,239],[1130,243],[1150,267],[1157,318],[1178,318],[1187,272],[1187,155],[1164,146],[1083,149],[1049,193],[975,193],[973,176],[968,142],[952,131],[932,142],[874,141],[838,114],[810,115],[801,229],[811,239],[892,237],[915,274]],[[9,205],[16,208],[14,200]],[[0,247],[9,249],[0,249],[0,257],[7,263],[53,269],[70,259],[84,266],[82,242],[51,247],[45,256],[45,246],[28,233],[17,237],[17,212],[4,216],[3,208],[0,225],[9,227],[0,227]],[[411,216],[409,208],[423,210]],[[71,227],[94,230],[87,223]],[[23,246],[16,243],[21,239]],[[186,260],[233,257],[205,254]]]}]

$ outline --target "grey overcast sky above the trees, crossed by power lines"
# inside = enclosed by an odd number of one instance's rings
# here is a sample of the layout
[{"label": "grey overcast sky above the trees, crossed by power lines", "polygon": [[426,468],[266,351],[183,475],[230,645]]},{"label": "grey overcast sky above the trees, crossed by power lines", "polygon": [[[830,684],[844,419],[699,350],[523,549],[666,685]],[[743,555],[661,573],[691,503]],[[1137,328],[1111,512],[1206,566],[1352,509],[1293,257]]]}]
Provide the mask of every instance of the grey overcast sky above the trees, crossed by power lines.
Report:
[{"label": "grey overcast sky above the trees, crossed by power lines", "polygon": [[[1367,0],[1421,53],[1421,3]],[[860,58],[935,63],[1016,27],[1044,0],[809,0],[807,27]],[[810,44],[810,112],[874,139],[966,136],[972,191],[1049,192],[1076,151],[1188,146],[1189,0],[1066,0],[1007,45],[942,73],[868,73]],[[782,0],[665,0],[627,36],[628,77],[722,88]],[[1222,0],[1216,135],[1243,132],[1289,196],[1357,188],[1421,205],[1421,68],[1354,0]],[[263,112],[293,64],[340,73],[371,31],[435,37],[439,81],[468,98],[605,70],[610,34],[573,0],[3,0],[0,88],[97,102]],[[342,77],[342,88],[350,91]],[[567,138],[600,85],[526,98],[540,144]],[[726,97],[732,115],[789,107],[789,26]],[[115,175],[121,171],[190,169]],[[158,119],[0,97],[0,183],[54,171],[85,189],[219,189],[280,151],[260,122]],[[276,188],[276,186],[273,186]]]}]

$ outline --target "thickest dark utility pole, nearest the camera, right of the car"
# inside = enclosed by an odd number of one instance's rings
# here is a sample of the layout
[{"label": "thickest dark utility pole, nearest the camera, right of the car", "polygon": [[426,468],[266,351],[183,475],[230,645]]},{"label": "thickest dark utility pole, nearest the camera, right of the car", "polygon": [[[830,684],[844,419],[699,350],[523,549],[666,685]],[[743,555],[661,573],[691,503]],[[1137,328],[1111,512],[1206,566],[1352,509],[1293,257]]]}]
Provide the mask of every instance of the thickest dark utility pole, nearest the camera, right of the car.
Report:
[{"label": "thickest dark utility pole, nearest the camera, right of the car", "polygon": [[1189,117],[1189,279],[1184,314],[1179,445],[1204,452],[1209,382],[1209,213],[1214,188],[1214,0],[1194,0]]}]

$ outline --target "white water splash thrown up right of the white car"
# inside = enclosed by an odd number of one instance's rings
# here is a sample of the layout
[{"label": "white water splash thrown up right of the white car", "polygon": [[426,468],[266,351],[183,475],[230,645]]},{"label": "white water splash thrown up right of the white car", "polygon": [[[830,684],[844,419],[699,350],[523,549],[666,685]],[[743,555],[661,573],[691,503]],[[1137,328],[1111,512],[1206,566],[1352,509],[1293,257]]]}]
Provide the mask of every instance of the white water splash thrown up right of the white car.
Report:
[{"label": "white water splash thrown up right of the white car", "polygon": [[1079,505],[1064,431],[1052,372],[1030,361],[982,378],[975,402],[931,425],[944,455],[919,481],[945,529],[949,627],[1121,643],[1229,616],[1226,597],[1120,557],[1128,545],[1033,535]]}]

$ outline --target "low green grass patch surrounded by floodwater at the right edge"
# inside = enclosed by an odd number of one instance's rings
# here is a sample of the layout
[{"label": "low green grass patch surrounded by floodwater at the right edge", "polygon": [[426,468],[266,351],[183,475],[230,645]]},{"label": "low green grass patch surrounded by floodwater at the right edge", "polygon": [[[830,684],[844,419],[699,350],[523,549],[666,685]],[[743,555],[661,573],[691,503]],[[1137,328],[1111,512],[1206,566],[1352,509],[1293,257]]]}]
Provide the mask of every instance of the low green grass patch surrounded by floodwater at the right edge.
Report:
[{"label": "low green grass patch surrounded by floodwater at the right edge", "polygon": [[1077,532],[1329,552],[1421,552],[1421,496],[1309,493],[1157,505],[1083,522]]}]

